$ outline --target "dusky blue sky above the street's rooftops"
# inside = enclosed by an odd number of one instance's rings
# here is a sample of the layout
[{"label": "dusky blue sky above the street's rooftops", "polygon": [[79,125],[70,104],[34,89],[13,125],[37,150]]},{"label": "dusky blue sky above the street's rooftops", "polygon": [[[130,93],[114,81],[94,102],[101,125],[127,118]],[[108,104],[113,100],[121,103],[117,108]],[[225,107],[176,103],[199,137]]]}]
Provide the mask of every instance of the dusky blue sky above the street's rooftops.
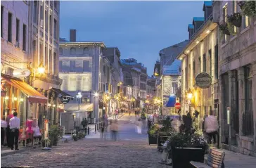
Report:
[{"label": "dusky blue sky above the street's rooftops", "polygon": [[188,39],[188,23],[203,16],[203,1],[60,1],[60,37],[104,41],[121,58],[136,58],[153,74],[158,53]]}]

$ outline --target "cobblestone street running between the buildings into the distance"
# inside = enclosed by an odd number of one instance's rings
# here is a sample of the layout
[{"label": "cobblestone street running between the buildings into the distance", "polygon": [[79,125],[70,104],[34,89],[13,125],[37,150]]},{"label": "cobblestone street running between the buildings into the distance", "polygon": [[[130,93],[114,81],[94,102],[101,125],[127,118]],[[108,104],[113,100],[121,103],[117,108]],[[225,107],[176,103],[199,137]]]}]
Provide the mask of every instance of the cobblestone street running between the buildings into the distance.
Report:
[{"label": "cobblestone street running between the buildings into the distance", "polygon": [[134,120],[134,115],[120,118],[118,141],[110,141],[110,134],[101,141],[96,134],[96,138],[60,142],[51,151],[37,148],[1,157],[1,167],[166,167],[158,164],[161,155],[156,146],[148,146],[147,135],[136,134]]}]

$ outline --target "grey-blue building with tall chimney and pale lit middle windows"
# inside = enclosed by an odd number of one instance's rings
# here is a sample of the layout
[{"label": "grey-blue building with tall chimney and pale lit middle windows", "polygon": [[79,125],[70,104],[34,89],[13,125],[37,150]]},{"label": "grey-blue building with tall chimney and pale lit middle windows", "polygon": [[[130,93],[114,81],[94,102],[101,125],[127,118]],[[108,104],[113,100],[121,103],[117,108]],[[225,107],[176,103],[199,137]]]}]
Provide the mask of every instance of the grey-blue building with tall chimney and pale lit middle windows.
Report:
[{"label": "grey-blue building with tall chimney and pale lit middle windows", "polygon": [[[105,44],[103,41],[75,41],[75,33],[70,31],[70,39],[74,41],[60,42],[59,76],[63,79],[61,90],[76,97],[77,93],[82,94],[84,111],[89,112],[89,122],[98,122],[101,103],[101,72],[103,72],[103,53]],[[103,73],[102,73],[103,75]],[[84,101],[83,101],[84,100]],[[90,103],[93,104],[93,109]],[[72,106],[73,110],[78,109],[77,100],[74,99],[65,105],[67,110]],[[91,112],[93,111],[93,112]]]}]

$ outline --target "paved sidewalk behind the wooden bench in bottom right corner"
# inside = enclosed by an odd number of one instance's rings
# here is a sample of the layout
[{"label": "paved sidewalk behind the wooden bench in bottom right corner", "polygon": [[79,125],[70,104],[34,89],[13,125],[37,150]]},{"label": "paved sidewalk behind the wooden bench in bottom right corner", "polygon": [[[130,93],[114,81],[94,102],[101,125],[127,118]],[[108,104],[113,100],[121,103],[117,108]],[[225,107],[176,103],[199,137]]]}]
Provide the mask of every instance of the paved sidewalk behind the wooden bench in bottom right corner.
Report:
[{"label": "paved sidewalk behind the wooden bench in bottom right corner", "polygon": [[[234,153],[231,150],[217,149],[225,152],[224,164],[225,168],[255,168],[256,157],[243,155],[241,153]],[[205,155],[207,160],[207,155]]]}]

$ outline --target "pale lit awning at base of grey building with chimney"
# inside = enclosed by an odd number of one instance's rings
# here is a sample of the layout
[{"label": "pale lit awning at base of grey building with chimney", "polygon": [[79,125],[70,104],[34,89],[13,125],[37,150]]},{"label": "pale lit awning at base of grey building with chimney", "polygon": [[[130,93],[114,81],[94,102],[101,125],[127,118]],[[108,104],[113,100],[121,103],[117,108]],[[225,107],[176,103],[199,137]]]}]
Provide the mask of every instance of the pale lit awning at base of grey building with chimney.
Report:
[{"label": "pale lit awning at base of grey building with chimney", "polygon": [[93,103],[81,103],[79,105],[78,110],[78,103],[68,103],[64,105],[65,111],[87,111],[91,112],[94,110],[94,104]]}]

